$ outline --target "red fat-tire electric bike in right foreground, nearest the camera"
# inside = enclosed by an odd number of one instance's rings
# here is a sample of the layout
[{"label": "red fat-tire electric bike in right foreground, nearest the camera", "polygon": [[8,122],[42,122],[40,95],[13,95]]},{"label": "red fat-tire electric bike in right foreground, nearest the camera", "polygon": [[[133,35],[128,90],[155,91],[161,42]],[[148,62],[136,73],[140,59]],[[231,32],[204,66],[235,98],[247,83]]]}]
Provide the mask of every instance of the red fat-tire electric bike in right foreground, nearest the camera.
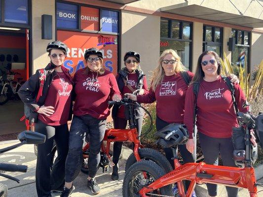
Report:
[{"label": "red fat-tire electric bike in right foreground, nearest the camera", "polygon": [[[139,161],[133,164],[126,171],[123,180],[123,197],[174,197],[172,193],[172,184],[174,183],[178,184],[179,194],[177,197],[191,197],[195,185],[202,183],[245,188],[248,189],[250,197],[258,197],[255,171],[252,166],[253,159],[251,157],[253,148],[251,146],[251,131],[254,132],[257,141],[260,142],[263,147],[263,114],[260,114],[258,117],[242,112],[237,112],[237,114],[245,131],[244,167],[218,166],[205,164],[203,162],[199,164],[188,163],[181,165],[174,148],[174,146],[178,144],[170,144],[167,147],[173,150],[175,169],[165,173],[162,167],[151,161]],[[157,135],[158,132],[156,133]],[[160,140],[169,140],[169,136],[174,134],[173,132],[176,131],[168,132],[166,136],[160,138]],[[187,140],[185,140],[184,143],[186,143],[186,141]],[[186,193],[182,182],[183,180],[190,181]]]}]

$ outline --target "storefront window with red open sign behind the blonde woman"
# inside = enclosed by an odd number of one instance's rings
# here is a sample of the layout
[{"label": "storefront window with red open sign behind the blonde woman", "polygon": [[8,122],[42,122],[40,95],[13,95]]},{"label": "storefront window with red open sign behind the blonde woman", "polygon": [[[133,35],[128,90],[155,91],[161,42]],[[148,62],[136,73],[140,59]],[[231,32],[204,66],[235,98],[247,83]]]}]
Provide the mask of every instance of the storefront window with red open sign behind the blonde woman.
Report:
[{"label": "storefront window with red open sign behind the blonde woman", "polygon": [[174,49],[188,69],[191,68],[191,28],[184,21],[161,19],[160,54],[166,49]]}]

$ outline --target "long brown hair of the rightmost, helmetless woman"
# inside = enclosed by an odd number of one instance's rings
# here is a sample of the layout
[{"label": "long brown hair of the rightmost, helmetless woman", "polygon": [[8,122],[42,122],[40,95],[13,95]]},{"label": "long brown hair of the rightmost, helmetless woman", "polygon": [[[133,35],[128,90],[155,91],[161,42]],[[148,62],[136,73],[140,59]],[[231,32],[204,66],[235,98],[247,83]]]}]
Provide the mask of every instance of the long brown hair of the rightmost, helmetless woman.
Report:
[{"label": "long brown hair of the rightmost, helmetless woman", "polygon": [[197,67],[196,67],[196,70],[195,70],[195,74],[194,74],[194,77],[192,79],[192,83],[194,82],[200,82],[204,76],[205,76],[205,73],[204,71],[202,70],[202,59],[205,55],[213,55],[217,61],[217,64],[218,64],[218,68],[217,68],[217,74],[220,75],[221,74],[221,70],[222,70],[222,65],[221,65],[221,61],[220,61],[220,57],[219,55],[214,52],[214,51],[204,51],[198,58],[198,61],[197,61]]}]

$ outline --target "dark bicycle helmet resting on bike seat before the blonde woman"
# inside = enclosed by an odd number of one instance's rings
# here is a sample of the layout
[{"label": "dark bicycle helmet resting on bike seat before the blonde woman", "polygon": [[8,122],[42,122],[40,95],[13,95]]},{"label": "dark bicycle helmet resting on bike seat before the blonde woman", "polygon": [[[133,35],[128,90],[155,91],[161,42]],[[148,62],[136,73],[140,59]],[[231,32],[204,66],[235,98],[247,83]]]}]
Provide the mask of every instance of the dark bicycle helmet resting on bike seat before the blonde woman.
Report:
[{"label": "dark bicycle helmet resting on bike seat before the blonde woman", "polygon": [[189,133],[184,124],[172,123],[155,133],[160,137],[159,144],[165,148],[185,144],[189,138]]}]

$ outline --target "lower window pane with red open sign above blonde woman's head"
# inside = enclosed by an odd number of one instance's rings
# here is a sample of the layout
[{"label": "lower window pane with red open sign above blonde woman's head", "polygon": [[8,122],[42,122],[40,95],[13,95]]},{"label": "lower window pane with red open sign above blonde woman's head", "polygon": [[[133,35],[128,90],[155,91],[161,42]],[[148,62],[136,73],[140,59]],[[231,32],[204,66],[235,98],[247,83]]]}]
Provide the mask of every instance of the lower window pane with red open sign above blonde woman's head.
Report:
[{"label": "lower window pane with red open sign above blonde woman's head", "polygon": [[190,42],[161,39],[160,54],[166,49],[175,50],[182,59],[183,65],[189,68]]}]

